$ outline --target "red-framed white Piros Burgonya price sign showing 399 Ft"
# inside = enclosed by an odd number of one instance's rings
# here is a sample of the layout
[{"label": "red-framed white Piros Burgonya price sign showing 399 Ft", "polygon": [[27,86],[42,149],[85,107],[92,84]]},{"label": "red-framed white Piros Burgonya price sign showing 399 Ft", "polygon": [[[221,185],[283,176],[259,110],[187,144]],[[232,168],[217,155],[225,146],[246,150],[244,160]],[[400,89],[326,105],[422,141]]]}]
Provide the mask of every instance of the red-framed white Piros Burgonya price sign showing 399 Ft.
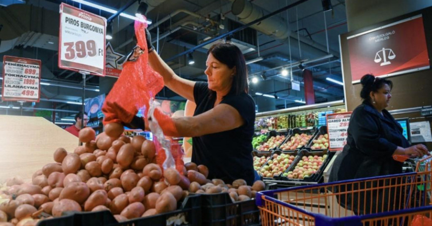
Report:
[{"label": "red-framed white Piros Burgonya price sign showing 399 Ft", "polygon": [[59,68],[105,74],[106,19],[60,4]]}]

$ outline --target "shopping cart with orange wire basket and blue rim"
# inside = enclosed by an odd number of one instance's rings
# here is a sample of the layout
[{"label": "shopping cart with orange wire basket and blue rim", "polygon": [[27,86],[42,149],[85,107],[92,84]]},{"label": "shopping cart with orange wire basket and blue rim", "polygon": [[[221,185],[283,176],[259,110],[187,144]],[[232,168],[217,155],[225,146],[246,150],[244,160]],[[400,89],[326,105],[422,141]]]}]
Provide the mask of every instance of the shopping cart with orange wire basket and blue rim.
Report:
[{"label": "shopping cart with orange wire basket and blue rim", "polygon": [[432,225],[432,156],[410,160],[415,172],[263,191],[262,225]]}]

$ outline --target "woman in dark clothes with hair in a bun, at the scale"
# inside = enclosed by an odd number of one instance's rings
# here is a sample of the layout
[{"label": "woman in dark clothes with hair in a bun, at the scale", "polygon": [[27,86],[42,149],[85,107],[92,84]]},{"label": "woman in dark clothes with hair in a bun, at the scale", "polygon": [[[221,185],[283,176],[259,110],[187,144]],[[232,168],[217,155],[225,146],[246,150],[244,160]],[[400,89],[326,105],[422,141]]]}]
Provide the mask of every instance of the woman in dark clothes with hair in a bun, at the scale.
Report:
[{"label": "woman in dark clothes with hair in a bun, at the scale", "polygon": [[[361,84],[363,87],[360,97],[363,103],[357,106],[351,115],[347,144],[335,159],[329,181],[400,174],[402,163],[394,160],[393,155],[422,157],[428,154],[424,145],[411,146],[409,144],[402,135],[402,127],[385,109],[391,99],[392,81],[367,74],[362,77]],[[347,186],[346,190],[351,190],[351,188]],[[395,190],[386,192],[393,193]],[[370,194],[366,192],[363,195]],[[383,201],[385,198],[379,199],[378,202],[385,203]],[[348,208],[352,204],[351,200],[351,197],[347,199],[343,197],[340,199],[342,202],[340,204]],[[363,201],[360,201],[360,209],[357,209],[357,198],[353,200],[354,209],[352,210],[356,214],[364,214]],[[395,204],[397,208],[398,203]],[[381,207],[380,204],[378,206]],[[366,211],[369,210],[368,206]]]}]

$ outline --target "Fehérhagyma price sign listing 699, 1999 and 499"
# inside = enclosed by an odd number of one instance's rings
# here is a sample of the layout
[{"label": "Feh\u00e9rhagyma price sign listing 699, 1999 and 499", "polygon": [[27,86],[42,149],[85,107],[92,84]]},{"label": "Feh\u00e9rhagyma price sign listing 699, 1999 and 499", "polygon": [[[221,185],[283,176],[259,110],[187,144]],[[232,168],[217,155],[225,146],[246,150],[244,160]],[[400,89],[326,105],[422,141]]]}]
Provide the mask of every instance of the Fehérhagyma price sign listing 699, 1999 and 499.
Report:
[{"label": "Feh\u00e9rhagyma price sign listing 699, 1999 and 499", "polygon": [[41,61],[4,56],[2,100],[39,102]]}]

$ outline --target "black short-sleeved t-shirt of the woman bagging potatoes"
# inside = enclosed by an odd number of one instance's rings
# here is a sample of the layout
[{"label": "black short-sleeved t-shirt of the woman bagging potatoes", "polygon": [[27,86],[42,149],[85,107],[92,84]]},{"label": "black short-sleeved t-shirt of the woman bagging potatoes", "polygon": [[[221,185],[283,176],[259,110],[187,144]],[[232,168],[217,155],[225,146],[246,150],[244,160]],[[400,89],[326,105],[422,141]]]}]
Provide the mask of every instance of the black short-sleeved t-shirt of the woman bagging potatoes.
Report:
[{"label": "black short-sleeved t-shirt of the woman bagging potatoes", "polygon": [[[215,96],[210,98],[208,84],[196,82],[193,88],[196,108],[194,116],[214,106]],[[254,181],[252,137],[254,134],[255,102],[247,93],[228,94],[221,103],[239,111],[245,124],[234,130],[192,138],[192,162],[208,167],[208,179],[219,178],[226,183],[244,179],[248,185]]]}]

